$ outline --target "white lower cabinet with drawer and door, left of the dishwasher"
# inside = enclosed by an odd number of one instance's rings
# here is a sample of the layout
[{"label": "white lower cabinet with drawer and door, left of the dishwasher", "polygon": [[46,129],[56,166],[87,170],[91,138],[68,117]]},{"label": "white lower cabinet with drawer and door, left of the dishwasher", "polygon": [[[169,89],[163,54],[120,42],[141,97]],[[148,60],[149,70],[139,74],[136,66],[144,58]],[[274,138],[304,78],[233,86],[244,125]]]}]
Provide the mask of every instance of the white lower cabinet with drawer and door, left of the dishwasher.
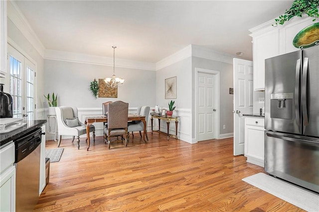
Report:
[{"label": "white lower cabinet with drawer and door, left of the dishwasher", "polygon": [[0,212],[15,211],[15,166],[13,141],[0,147]]}]

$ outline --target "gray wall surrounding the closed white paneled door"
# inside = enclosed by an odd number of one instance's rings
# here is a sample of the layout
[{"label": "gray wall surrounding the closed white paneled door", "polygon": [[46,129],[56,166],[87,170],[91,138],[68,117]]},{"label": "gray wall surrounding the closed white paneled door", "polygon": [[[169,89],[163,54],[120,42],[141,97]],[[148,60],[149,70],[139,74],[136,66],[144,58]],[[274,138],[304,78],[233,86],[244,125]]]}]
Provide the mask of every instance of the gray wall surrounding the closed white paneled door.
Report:
[{"label": "gray wall surrounding the closed white paneled door", "polygon": [[[220,117],[219,117],[219,134],[234,132],[233,124],[233,95],[229,94],[229,88],[233,87],[233,65],[218,61],[192,57],[193,84],[195,83],[195,68],[209,69],[220,72]],[[195,88],[193,88],[193,93]],[[195,101],[192,101],[192,108],[195,107]],[[195,120],[193,114],[193,120]],[[223,129],[226,125],[226,129]],[[193,128],[193,131],[195,129]],[[194,134],[195,132],[193,132]]]}]

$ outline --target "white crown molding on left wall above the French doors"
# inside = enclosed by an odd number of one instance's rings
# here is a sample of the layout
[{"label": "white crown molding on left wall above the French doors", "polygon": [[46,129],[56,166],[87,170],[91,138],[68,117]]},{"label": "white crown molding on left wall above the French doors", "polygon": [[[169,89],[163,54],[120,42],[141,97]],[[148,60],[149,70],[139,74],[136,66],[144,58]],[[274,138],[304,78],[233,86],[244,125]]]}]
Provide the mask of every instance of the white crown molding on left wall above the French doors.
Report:
[{"label": "white crown molding on left wall above the French doors", "polygon": [[43,57],[45,48],[41,43],[40,39],[33,31],[32,27],[22,14],[19,7],[12,0],[8,0],[7,2],[7,17],[13,22],[13,24],[19,29],[23,36],[36,49],[40,56]]}]

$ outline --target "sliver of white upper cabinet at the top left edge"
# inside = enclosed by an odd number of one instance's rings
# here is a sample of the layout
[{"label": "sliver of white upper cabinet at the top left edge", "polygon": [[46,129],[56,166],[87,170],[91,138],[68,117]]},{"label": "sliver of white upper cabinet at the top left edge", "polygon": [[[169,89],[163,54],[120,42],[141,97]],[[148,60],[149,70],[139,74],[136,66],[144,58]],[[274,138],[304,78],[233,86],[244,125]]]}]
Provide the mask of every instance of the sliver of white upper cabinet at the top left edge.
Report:
[{"label": "sliver of white upper cabinet at the top left edge", "polygon": [[6,0],[0,0],[0,76],[6,74]]}]

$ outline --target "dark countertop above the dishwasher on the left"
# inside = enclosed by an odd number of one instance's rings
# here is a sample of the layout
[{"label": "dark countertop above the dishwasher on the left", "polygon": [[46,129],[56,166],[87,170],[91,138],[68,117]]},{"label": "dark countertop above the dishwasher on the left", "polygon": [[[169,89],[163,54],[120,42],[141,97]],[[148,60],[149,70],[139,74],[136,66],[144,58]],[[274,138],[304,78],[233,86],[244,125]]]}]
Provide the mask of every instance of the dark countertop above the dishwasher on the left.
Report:
[{"label": "dark countertop above the dishwasher on the left", "polygon": [[43,124],[46,123],[46,120],[23,121],[23,123],[26,123],[26,125],[24,125],[23,127],[7,133],[0,133],[0,146],[9,141],[19,138],[20,136],[34,130],[35,128],[41,127]]}]

